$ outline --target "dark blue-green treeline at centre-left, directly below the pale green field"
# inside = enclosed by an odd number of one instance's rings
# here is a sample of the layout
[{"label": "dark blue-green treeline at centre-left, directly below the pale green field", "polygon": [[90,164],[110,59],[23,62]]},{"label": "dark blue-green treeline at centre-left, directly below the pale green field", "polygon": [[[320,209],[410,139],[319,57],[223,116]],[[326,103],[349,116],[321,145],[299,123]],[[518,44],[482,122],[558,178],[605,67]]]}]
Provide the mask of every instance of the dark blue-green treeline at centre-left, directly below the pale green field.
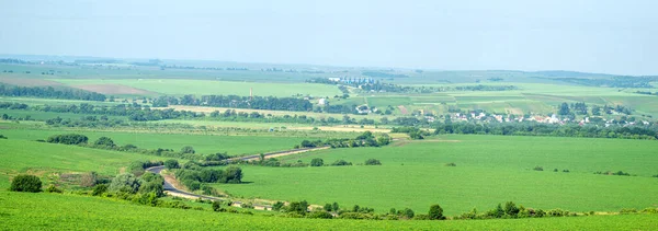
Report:
[{"label": "dark blue-green treeline at centre-left, directly below the pale green field", "polygon": [[313,104],[308,100],[296,97],[274,97],[274,96],[238,96],[238,95],[194,95],[160,96],[154,101],[154,106],[164,107],[169,105],[192,105],[192,106],[214,106],[251,109],[274,109],[274,111],[313,111]]}]

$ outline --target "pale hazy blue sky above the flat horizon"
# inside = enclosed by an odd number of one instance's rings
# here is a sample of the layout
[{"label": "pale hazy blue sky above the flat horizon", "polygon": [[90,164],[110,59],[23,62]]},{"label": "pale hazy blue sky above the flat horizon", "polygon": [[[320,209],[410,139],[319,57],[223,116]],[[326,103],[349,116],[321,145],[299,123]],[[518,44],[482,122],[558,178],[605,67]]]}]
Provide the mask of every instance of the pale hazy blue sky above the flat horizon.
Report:
[{"label": "pale hazy blue sky above the flat horizon", "polygon": [[0,54],[658,74],[655,0],[0,0]]}]

